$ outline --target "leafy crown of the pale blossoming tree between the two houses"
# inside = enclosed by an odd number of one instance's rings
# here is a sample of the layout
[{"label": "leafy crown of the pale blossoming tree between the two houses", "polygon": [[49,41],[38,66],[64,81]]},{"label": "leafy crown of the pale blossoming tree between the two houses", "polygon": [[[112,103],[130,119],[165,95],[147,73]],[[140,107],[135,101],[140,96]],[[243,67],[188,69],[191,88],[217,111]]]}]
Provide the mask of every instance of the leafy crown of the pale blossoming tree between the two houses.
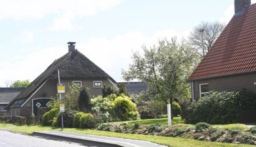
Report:
[{"label": "leafy crown of the pale blossoming tree between the two houses", "polygon": [[190,98],[188,76],[198,63],[197,53],[188,45],[178,45],[172,41],[159,40],[158,45],[147,49],[144,54],[133,53],[133,63],[127,71],[122,70],[124,80],[141,80],[147,83],[147,95],[166,104],[172,104],[174,98]]}]

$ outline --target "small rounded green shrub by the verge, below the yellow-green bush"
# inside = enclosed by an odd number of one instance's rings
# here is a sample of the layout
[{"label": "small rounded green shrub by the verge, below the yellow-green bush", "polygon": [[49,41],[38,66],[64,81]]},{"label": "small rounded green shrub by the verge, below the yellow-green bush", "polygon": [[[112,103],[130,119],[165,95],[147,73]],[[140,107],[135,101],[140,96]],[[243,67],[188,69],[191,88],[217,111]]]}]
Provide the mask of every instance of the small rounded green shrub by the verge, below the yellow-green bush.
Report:
[{"label": "small rounded green shrub by the verge, below the yellow-green bush", "polygon": [[97,120],[92,114],[83,114],[80,118],[80,128],[95,128]]}]

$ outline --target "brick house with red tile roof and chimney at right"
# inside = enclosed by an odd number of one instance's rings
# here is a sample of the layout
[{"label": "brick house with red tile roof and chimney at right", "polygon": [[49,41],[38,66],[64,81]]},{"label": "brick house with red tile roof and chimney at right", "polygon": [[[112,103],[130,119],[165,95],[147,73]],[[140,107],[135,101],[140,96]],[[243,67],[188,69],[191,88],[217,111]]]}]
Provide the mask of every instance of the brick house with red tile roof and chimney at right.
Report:
[{"label": "brick house with red tile roof and chimney at right", "polygon": [[212,90],[247,88],[256,94],[256,4],[235,0],[235,15],[188,81],[192,101]]}]

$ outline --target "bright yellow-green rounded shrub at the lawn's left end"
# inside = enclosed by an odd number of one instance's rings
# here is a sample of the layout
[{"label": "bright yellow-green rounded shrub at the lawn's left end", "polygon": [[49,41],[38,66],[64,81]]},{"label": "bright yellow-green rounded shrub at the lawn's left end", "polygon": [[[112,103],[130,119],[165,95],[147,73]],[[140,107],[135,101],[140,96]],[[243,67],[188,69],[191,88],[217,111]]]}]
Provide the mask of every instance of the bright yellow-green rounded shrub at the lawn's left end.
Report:
[{"label": "bright yellow-green rounded shrub at the lawn's left end", "polygon": [[127,96],[119,96],[113,102],[115,112],[120,120],[137,120],[139,112],[137,106]]}]

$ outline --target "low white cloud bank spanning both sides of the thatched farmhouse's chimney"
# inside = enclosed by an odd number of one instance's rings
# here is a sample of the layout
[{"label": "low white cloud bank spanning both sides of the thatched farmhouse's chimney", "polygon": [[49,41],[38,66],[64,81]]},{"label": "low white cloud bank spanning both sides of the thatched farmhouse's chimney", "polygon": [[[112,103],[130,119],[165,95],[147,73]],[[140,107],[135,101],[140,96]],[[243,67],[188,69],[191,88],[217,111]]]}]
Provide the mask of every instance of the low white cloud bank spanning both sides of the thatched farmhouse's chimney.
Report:
[{"label": "low white cloud bank spanning both sides of the thatched farmhouse's chimney", "polygon": [[[170,37],[173,36],[180,38],[182,34],[184,33],[178,33],[171,29],[157,31],[152,36],[133,31],[123,35],[116,35],[112,39],[91,38],[85,43],[77,42],[76,48],[118,82],[122,81],[121,69],[128,69],[129,63],[132,63],[131,56],[133,51],[142,51],[142,45],[150,47],[156,44],[158,39],[163,39],[164,37],[171,39]],[[67,53],[68,47],[30,50],[31,53],[25,56],[13,55],[15,59],[10,59],[8,62],[0,64],[0,86],[5,86],[8,81],[34,80],[54,59],[58,59]]]}]

